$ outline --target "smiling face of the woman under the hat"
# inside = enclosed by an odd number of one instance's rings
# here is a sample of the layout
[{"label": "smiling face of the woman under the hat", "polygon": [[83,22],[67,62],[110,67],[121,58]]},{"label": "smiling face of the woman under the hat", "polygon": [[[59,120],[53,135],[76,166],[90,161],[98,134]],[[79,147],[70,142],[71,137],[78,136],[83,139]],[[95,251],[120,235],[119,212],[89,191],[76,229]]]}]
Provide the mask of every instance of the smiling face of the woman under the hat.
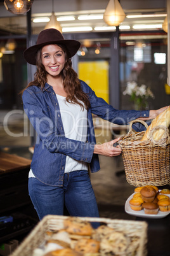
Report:
[{"label": "smiling face of the woman under the hat", "polygon": [[41,50],[41,60],[48,76],[60,76],[65,65],[65,53],[58,45],[45,45]]}]

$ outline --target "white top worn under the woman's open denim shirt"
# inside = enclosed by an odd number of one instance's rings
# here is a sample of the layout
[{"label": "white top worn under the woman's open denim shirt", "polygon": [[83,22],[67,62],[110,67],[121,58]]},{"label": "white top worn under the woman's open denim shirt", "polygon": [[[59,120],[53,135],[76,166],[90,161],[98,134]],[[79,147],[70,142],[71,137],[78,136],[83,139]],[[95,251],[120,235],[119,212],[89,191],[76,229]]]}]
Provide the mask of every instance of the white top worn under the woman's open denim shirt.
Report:
[{"label": "white top worn under the woman's open denim shirt", "polygon": [[[66,97],[60,96],[58,94],[56,94],[56,97],[60,106],[65,137],[86,142],[88,131],[88,111],[85,108],[82,109],[79,104],[68,103],[65,99]],[[65,173],[84,169],[88,170],[88,164],[86,162],[74,160],[67,155]],[[29,172],[29,177],[34,177],[31,169]]]}]

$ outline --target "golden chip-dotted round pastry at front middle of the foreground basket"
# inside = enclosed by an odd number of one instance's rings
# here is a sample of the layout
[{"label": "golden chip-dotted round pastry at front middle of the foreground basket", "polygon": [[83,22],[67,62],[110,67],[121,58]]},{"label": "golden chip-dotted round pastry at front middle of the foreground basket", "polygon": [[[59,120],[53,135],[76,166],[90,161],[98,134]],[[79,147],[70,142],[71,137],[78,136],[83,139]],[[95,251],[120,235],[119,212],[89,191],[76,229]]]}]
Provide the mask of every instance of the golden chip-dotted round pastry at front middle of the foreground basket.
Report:
[{"label": "golden chip-dotted round pastry at front middle of the foreground basket", "polygon": [[96,241],[95,239],[87,239],[82,238],[77,241],[75,244],[74,250],[76,252],[82,253],[95,253],[100,249],[100,241]]}]

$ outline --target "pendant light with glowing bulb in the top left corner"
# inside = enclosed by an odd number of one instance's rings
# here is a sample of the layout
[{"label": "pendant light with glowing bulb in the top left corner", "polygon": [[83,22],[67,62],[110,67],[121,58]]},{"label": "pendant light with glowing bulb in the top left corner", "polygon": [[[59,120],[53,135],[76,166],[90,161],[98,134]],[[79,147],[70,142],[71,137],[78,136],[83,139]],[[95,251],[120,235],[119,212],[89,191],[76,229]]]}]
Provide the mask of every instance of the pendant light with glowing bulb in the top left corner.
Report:
[{"label": "pendant light with glowing bulb in the top left corner", "polygon": [[24,14],[30,10],[34,0],[4,0],[7,11],[13,14]]}]

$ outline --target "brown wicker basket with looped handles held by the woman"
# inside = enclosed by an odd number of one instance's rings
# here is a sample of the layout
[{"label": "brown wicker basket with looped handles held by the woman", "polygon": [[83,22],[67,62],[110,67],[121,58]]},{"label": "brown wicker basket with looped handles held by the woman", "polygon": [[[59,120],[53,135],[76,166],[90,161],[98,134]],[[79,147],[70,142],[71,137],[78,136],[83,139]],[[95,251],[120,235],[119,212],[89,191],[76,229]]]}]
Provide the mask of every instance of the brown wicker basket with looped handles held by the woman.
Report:
[{"label": "brown wicker basket with looped handles held by the woman", "polygon": [[[129,132],[121,136],[119,145],[122,148],[122,159],[126,180],[129,184],[140,187],[145,185],[162,186],[170,183],[170,136],[169,130],[163,125],[150,131],[147,141],[140,141],[143,132],[133,132],[134,122],[141,122],[147,128],[146,122],[133,120],[129,124]],[[164,129],[164,138],[154,141],[153,134],[157,129]]]}]

